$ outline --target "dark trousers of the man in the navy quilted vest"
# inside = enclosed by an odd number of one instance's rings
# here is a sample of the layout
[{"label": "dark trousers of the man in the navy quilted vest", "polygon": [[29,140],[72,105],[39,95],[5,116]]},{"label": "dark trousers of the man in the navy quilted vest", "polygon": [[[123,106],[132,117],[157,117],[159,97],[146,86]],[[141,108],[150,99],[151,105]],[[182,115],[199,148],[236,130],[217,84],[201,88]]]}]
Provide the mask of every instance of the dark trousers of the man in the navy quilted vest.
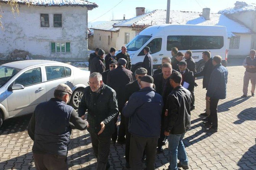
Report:
[{"label": "dark trousers of the man in the navy quilted vest", "polygon": [[68,170],[66,156],[38,154],[33,152],[36,170]]}]

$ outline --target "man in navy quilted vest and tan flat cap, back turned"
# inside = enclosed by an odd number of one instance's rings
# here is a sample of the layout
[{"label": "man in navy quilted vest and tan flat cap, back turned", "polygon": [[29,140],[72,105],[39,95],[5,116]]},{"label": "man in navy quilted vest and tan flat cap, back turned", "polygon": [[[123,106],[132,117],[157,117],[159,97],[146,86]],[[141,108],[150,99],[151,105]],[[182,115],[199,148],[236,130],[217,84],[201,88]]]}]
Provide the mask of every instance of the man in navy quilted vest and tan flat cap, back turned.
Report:
[{"label": "man in navy quilted vest and tan flat cap, back turned", "polygon": [[54,98],[36,106],[28,125],[28,134],[34,141],[32,152],[37,170],[68,170],[67,154],[72,129],[85,130],[73,107],[67,105],[72,95],[68,85],[55,88]]}]

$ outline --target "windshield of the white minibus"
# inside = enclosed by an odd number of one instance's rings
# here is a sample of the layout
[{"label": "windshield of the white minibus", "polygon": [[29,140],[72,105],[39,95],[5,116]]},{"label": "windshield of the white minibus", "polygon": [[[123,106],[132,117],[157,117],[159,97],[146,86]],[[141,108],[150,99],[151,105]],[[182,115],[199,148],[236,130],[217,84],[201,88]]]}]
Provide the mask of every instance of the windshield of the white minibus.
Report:
[{"label": "windshield of the white minibus", "polygon": [[139,50],[152,36],[150,35],[137,35],[127,45],[127,51]]}]

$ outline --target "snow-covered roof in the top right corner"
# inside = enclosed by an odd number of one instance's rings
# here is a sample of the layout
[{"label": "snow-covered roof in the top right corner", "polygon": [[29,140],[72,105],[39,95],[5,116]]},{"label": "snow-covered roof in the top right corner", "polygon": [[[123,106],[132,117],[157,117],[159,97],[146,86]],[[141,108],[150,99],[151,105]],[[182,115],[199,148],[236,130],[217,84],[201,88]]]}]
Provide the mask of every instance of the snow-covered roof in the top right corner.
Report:
[{"label": "snow-covered roof in the top right corner", "polygon": [[235,3],[235,7],[221,10],[221,11],[219,11],[219,13],[220,14],[235,14],[235,13],[246,12],[246,11],[256,11],[256,4],[255,3],[247,4],[245,2],[237,1]]}]

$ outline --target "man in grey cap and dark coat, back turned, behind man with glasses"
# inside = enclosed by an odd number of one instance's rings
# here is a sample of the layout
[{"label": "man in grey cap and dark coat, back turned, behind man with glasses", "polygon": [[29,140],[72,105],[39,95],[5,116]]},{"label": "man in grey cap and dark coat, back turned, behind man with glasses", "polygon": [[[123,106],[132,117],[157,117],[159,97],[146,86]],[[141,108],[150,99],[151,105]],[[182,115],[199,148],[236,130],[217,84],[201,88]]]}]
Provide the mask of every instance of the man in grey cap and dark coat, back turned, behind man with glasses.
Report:
[{"label": "man in grey cap and dark coat, back turned, behind man with glasses", "polygon": [[107,75],[107,85],[113,88],[117,93],[117,103],[118,110],[121,113],[121,122],[118,131],[118,140],[117,138],[117,128],[113,138],[112,143],[115,143],[117,140],[118,143],[125,143],[125,117],[122,114],[122,108],[125,104],[125,85],[133,81],[133,73],[126,69],[125,66],[127,61],[123,58],[118,59],[118,66],[116,69],[110,71]]}]

